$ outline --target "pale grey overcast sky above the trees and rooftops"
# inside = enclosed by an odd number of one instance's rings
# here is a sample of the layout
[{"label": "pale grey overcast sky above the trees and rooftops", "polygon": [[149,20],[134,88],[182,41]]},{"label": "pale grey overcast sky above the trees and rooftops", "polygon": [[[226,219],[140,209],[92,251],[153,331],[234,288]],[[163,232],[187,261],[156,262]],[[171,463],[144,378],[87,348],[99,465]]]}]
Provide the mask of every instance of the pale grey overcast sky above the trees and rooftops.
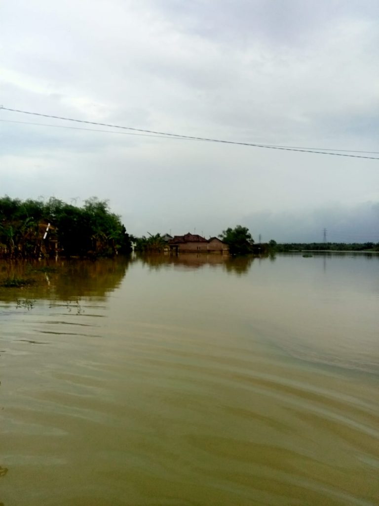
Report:
[{"label": "pale grey overcast sky above the trees and rooftops", "polygon": [[[12,0],[0,43],[4,107],[379,151],[377,0]],[[330,241],[379,241],[379,160],[0,119],[0,195],[109,199],[135,235],[241,224],[262,240],[322,241],[326,228]]]}]

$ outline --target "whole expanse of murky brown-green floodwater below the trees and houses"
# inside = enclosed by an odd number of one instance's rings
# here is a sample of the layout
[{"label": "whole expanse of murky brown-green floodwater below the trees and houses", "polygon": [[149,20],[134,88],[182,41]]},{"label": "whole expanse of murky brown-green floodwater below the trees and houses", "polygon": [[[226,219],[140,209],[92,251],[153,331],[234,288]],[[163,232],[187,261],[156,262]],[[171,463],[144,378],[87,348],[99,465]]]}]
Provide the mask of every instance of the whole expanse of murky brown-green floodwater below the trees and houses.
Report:
[{"label": "whole expanse of murky brown-green floodwater below the trees and houses", "polygon": [[0,263],[4,506],[379,503],[379,256]]}]

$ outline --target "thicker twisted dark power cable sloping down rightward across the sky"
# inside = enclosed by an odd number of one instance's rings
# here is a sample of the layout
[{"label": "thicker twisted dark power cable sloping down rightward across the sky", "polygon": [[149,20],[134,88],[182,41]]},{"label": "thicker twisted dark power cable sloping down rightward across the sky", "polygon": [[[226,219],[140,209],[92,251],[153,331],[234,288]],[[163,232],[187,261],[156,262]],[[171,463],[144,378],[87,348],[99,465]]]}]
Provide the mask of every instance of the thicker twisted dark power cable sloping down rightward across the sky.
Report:
[{"label": "thicker twisted dark power cable sloping down rightward across the sky", "polygon": [[[349,158],[367,158],[370,160],[379,160],[378,157],[374,157],[374,156],[352,155],[352,154],[347,154],[347,153],[336,153],[336,152],[325,151],[325,150],[324,151],[321,151],[321,150],[316,151],[316,149],[318,149],[318,148],[313,148],[313,149],[295,148],[295,147],[276,146],[276,145],[269,145],[269,144],[256,144],[256,143],[250,143],[250,142],[226,141],[226,140],[212,139],[212,138],[206,138],[206,137],[195,137],[195,136],[189,136],[189,135],[172,134],[172,133],[168,133],[168,132],[159,132],[159,131],[154,131],[154,130],[138,129],[138,128],[134,128],[132,126],[120,126],[120,125],[115,125],[115,124],[110,124],[110,123],[100,123],[97,121],[86,121],[84,119],[67,118],[64,116],[55,116],[52,114],[42,114],[39,112],[24,111],[21,109],[11,109],[8,107],[4,107],[2,105],[0,105],[0,109],[4,109],[5,111],[11,111],[11,112],[19,112],[21,114],[30,114],[33,116],[62,119],[64,121],[75,121],[77,123],[85,123],[85,124],[92,124],[92,125],[99,125],[99,126],[109,126],[110,128],[131,130],[133,132],[141,132],[144,134],[155,134],[158,136],[172,137],[172,138],[178,138],[178,139],[191,139],[191,140],[195,140],[195,141],[217,142],[220,144],[234,144],[234,145],[238,145],[238,146],[251,146],[251,147],[256,147],[256,148],[278,149],[278,150],[283,150],[283,151],[297,151],[297,152],[301,152],[301,153],[317,153],[317,154],[332,155],[332,156],[347,156]],[[335,150],[335,151],[342,151],[342,150]]]}]

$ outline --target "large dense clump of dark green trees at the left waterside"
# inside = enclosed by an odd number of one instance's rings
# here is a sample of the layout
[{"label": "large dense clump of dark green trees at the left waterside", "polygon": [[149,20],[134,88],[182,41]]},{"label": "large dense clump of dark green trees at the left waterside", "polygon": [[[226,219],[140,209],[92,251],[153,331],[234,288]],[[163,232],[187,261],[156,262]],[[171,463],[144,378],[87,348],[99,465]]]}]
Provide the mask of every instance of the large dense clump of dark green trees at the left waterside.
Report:
[{"label": "large dense clump of dark green trees at the left waterside", "polygon": [[54,197],[0,198],[0,258],[97,258],[130,251],[131,237],[106,200],[93,197],[79,207]]}]

